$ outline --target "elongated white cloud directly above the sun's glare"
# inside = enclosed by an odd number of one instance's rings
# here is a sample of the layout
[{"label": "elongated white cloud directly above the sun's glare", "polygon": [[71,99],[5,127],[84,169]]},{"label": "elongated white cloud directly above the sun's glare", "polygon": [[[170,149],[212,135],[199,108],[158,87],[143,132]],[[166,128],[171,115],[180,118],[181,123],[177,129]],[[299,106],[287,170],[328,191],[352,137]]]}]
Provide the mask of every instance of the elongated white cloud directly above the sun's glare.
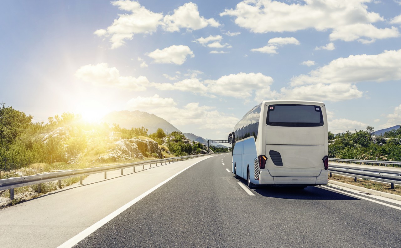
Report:
[{"label": "elongated white cloud directly above the sun's glare", "polygon": [[139,76],[138,78],[134,78],[132,76],[120,76],[117,68],[110,68],[107,63],[81,66],[75,72],[75,76],[96,86],[111,86],[137,91],[146,90],[146,86],[149,85],[149,81],[146,77]]}]

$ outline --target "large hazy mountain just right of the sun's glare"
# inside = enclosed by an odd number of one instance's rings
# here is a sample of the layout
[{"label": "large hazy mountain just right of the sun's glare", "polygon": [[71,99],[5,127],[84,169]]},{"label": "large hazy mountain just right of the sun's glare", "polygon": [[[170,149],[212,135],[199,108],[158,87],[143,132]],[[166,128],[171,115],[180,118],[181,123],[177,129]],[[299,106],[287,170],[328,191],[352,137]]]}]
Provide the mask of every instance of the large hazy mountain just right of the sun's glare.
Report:
[{"label": "large hazy mountain just right of the sun's glare", "polygon": [[127,129],[140,128],[143,126],[148,128],[148,134],[156,132],[158,128],[162,128],[166,134],[169,134],[173,131],[180,132],[180,130],[163,118],[147,112],[141,112],[139,110],[113,111],[109,114],[106,114],[101,121],[109,124],[119,124],[120,127]]}]

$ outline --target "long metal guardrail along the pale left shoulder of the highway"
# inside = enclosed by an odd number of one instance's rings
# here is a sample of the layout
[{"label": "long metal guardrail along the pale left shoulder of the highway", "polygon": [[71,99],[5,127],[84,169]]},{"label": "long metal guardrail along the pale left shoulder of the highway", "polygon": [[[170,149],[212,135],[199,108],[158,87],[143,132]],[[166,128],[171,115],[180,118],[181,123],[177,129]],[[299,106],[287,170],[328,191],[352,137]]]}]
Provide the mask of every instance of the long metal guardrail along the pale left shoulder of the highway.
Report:
[{"label": "long metal guardrail along the pale left shoulder of the highway", "polygon": [[38,193],[41,193],[41,184],[44,182],[53,182],[59,181],[59,188],[61,188],[61,180],[73,177],[80,177],[80,183],[82,184],[83,176],[96,174],[104,172],[104,178],[107,179],[107,172],[113,170],[121,169],[121,174],[123,174],[123,169],[133,167],[135,172],[136,166],[142,166],[143,169],[146,164],[150,164],[150,168],[152,168],[152,164],[168,162],[176,162],[180,160],[186,160],[190,158],[197,158],[200,156],[206,156],[209,154],[198,154],[192,156],[182,156],[182,157],[174,157],[174,158],[162,158],[162,159],[155,159],[155,160],[146,160],[140,161],[135,163],[129,164],[117,164],[117,165],[110,165],[110,166],[103,166],[103,167],[95,167],[95,168],[87,168],[87,169],[78,169],[78,170],[65,170],[60,172],[50,172],[46,174],[36,174],[32,176],[22,176],[17,178],[7,178],[0,180],[0,190],[10,190],[10,199],[14,199],[14,188],[23,187],[23,186],[30,186],[30,185],[38,185]]}]

